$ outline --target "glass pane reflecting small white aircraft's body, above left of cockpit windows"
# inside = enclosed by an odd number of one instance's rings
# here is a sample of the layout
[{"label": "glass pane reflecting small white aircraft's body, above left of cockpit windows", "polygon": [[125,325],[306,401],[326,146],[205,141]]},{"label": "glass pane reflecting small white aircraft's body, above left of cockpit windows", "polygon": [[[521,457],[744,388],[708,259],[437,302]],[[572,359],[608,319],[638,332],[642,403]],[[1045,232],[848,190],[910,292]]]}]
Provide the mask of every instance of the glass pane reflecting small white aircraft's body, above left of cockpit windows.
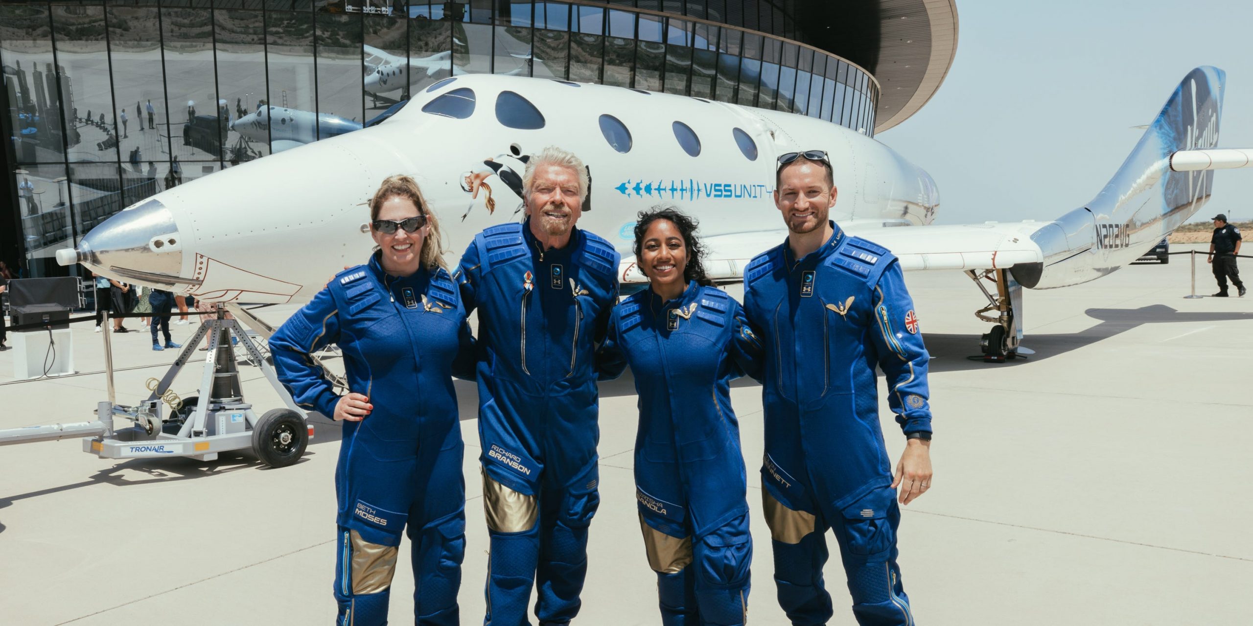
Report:
[{"label": "glass pane reflecting small white aircraft's body, above left of cockpit windows", "polygon": [[[366,118],[373,118],[397,100],[410,98],[410,73],[426,74],[408,65],[408,20],[387,15],[362,15],[361,71],[365,76]],[[321,85],[318,85],[321,88]],[[380,98],[381,96],[381,98]]]}]

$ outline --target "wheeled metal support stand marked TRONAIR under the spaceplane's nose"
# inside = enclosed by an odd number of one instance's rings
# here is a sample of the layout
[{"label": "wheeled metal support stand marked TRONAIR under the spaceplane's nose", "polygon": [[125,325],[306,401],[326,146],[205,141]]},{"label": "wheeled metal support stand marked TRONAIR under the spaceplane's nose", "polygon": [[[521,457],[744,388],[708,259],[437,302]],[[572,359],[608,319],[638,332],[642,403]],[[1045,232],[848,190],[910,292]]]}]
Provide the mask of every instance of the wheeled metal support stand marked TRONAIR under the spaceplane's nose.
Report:
[{"label": "wheeled metal support stand marked TRONAIR under the spaceplane's nose", "polygon": [[[273,328],[236,304],[218,304],[214,316],[205,316],[195,336],[170,364],[160,381],[150,381],[152,394],[135,406],[117,403],[113,384],[112,339],[104,333],[105,384],[109,399],[96,404],[94,422],[33,426],[0,431],[0,446],[84,437],[83,451],[100,458],[152,458],[188,456],[213,461],[218,453],[252,448],[267,464],[283,467],[304,454],[313,427],[287,389],[278,382],[273,367],[244,332],[239,322],[227,319],[229,309],[243,318],[267,339]],[[105,328],[108,316],[105,316]],[[197,396],[179,398],[169,387],[183,366],[190,361],[197,346],[209,337],[208,356]],[[238,342],[248,359],[261,368],[266,379],[278,392],[287,408],[276,408],[257,417],[252,404],[244,402],[239,372],[232,344]],[[154,384],[153,384],[154,383]],[[168,407],[168,413],[163,408]],[[163,414],[164,413],[164,414]],[[113,418],[134,422],[129,428],[114,428]]]}]

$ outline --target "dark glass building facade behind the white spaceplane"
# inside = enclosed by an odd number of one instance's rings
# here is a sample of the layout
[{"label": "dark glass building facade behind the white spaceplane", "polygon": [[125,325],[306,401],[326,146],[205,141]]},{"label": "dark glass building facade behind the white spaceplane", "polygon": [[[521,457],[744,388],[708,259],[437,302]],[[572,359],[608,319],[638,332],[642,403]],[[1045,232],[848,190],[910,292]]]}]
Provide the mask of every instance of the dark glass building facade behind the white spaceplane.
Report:
[{"label": "dark glass building facade behind the white spaceplane", "polygon": [[[55,250],[122,208],[361,128],[461,73],[683,94],[872,134],[877,83],[796,41],[789,4],[0,4],[0,124],[10,138],[0,190],[15,204],[0,224],[14,229],[0,258],[20,258],[28,277],[76,272],[58,267]],[[286,133],[301,114],[317,120],[316,136]]]}]

